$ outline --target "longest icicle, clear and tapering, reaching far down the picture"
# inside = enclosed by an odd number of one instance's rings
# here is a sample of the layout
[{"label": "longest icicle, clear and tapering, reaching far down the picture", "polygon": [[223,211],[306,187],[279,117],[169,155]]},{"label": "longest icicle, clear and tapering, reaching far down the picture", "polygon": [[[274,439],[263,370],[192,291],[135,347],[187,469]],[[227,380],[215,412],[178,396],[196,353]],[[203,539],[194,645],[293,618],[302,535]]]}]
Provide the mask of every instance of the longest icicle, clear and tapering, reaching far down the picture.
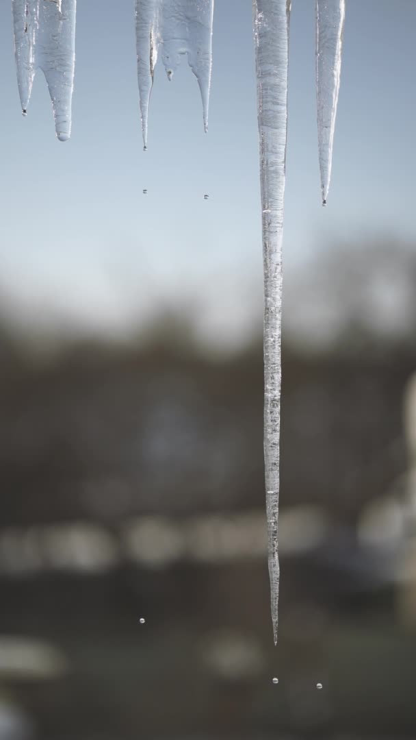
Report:
[{"label": "longest icicle, clear and tapering, reaching far down the picture", "polygon": [[265,275],[265,483],[274,642],[279,606],[282,235],[290,0],[253,0]]}]

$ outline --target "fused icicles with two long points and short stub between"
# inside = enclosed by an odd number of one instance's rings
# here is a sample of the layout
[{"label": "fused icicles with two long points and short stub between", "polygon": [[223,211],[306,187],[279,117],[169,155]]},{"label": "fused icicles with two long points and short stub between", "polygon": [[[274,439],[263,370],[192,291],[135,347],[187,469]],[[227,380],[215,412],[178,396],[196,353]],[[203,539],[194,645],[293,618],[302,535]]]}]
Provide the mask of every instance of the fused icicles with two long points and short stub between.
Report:
[{"label": "fused icicles with two long points and short stub between", "polygon": [[159,51],[168,79],[188,55],[202,97],[205,132],[212,67],[214,0],[136,0],[137,77],[143,144],[147,147],[149,101]]}]

